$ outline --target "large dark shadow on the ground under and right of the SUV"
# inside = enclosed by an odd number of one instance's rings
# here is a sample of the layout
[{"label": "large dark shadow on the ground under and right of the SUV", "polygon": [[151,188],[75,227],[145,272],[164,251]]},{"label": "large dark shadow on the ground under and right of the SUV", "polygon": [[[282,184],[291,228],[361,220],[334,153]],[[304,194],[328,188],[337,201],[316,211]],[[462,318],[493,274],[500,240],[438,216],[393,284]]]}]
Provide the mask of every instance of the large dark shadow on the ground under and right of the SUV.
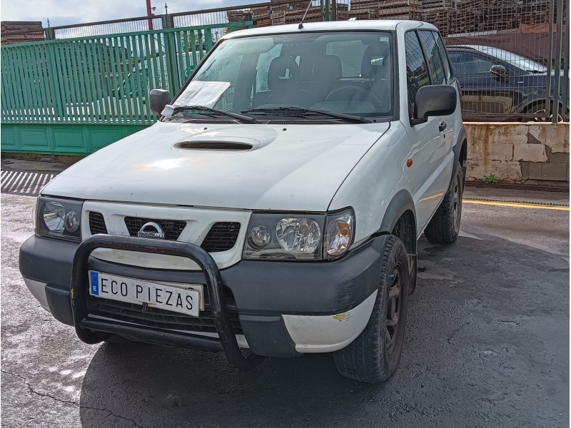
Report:
[{"label": "large dark shadow on the ground under and right of the SUV", "polygon": [[330,355],[241,373],[223,354],[102,345],[84,377],[81,424],[566,426],[567,261],[500,238],[420,247],[403,357],[385,384],[341,377]]}]

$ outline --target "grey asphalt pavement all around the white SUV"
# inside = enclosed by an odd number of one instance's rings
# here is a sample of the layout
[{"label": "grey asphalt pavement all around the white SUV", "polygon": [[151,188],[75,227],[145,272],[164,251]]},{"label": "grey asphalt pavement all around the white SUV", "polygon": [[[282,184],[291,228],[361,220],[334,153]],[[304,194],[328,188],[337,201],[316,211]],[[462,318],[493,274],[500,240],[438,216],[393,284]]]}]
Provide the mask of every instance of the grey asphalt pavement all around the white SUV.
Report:
[{"label": "grey asphalt pavement all around the white SUV", "polygon": [[399,367],[371,386],[330,355],[241,373],[221,354],[80,342],[19,274],[34,198],[3,194],[1,426],[568,427],[569,211],[482,202],[465,201],[453,245],[421,238]]}]

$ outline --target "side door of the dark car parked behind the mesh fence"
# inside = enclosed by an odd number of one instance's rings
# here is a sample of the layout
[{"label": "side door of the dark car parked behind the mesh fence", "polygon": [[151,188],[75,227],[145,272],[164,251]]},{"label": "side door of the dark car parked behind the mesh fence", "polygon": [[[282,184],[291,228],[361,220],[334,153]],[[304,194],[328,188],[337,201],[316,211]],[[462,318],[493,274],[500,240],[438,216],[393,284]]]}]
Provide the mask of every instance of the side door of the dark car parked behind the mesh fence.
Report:
[{"label": "side door of the dark car parked behind the mesh fence", "polygon": [[[463,113],[502,114],[513,110],[520,91],[509,66],[468,50],[453,50],[449,56],[460,82]],[[498,67],[503,67],[505,75],[492,73],[492,68]]]}]

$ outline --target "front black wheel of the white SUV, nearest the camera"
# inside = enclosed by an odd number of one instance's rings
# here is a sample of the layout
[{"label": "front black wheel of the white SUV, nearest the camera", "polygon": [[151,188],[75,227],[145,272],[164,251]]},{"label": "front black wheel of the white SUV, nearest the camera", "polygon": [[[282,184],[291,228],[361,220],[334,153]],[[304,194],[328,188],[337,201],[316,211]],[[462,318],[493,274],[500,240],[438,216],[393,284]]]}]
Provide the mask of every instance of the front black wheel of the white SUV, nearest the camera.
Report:
[{"label": "front black wheel of the white SUV, nearest the camera", "polygon": [[369,322],[350,345],[333,354],[340,374],[368,383],[383,382],[393,374],[405,335],[408,282],[405,245],[391,235],[382,256],[379,289]]}]

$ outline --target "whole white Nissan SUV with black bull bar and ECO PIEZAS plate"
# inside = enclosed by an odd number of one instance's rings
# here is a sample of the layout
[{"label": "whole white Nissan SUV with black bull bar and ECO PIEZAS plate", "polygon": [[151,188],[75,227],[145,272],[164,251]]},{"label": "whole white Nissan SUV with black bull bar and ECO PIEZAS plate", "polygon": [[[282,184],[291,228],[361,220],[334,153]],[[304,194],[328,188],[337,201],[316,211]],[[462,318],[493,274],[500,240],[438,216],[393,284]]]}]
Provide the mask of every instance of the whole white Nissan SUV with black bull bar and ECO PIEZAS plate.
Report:
[{"label": "whole white Nissan SUV with black bull bar and ECO PIEZAS plate", "polygon": [[[333,352],[393,373],[417,240],[458,236],[466,133],[438,30],[418,21],[225,36],[159,121],[47,185],[26,285],[88,343]],[[249,351],[248,351],[249,350]]]}]

